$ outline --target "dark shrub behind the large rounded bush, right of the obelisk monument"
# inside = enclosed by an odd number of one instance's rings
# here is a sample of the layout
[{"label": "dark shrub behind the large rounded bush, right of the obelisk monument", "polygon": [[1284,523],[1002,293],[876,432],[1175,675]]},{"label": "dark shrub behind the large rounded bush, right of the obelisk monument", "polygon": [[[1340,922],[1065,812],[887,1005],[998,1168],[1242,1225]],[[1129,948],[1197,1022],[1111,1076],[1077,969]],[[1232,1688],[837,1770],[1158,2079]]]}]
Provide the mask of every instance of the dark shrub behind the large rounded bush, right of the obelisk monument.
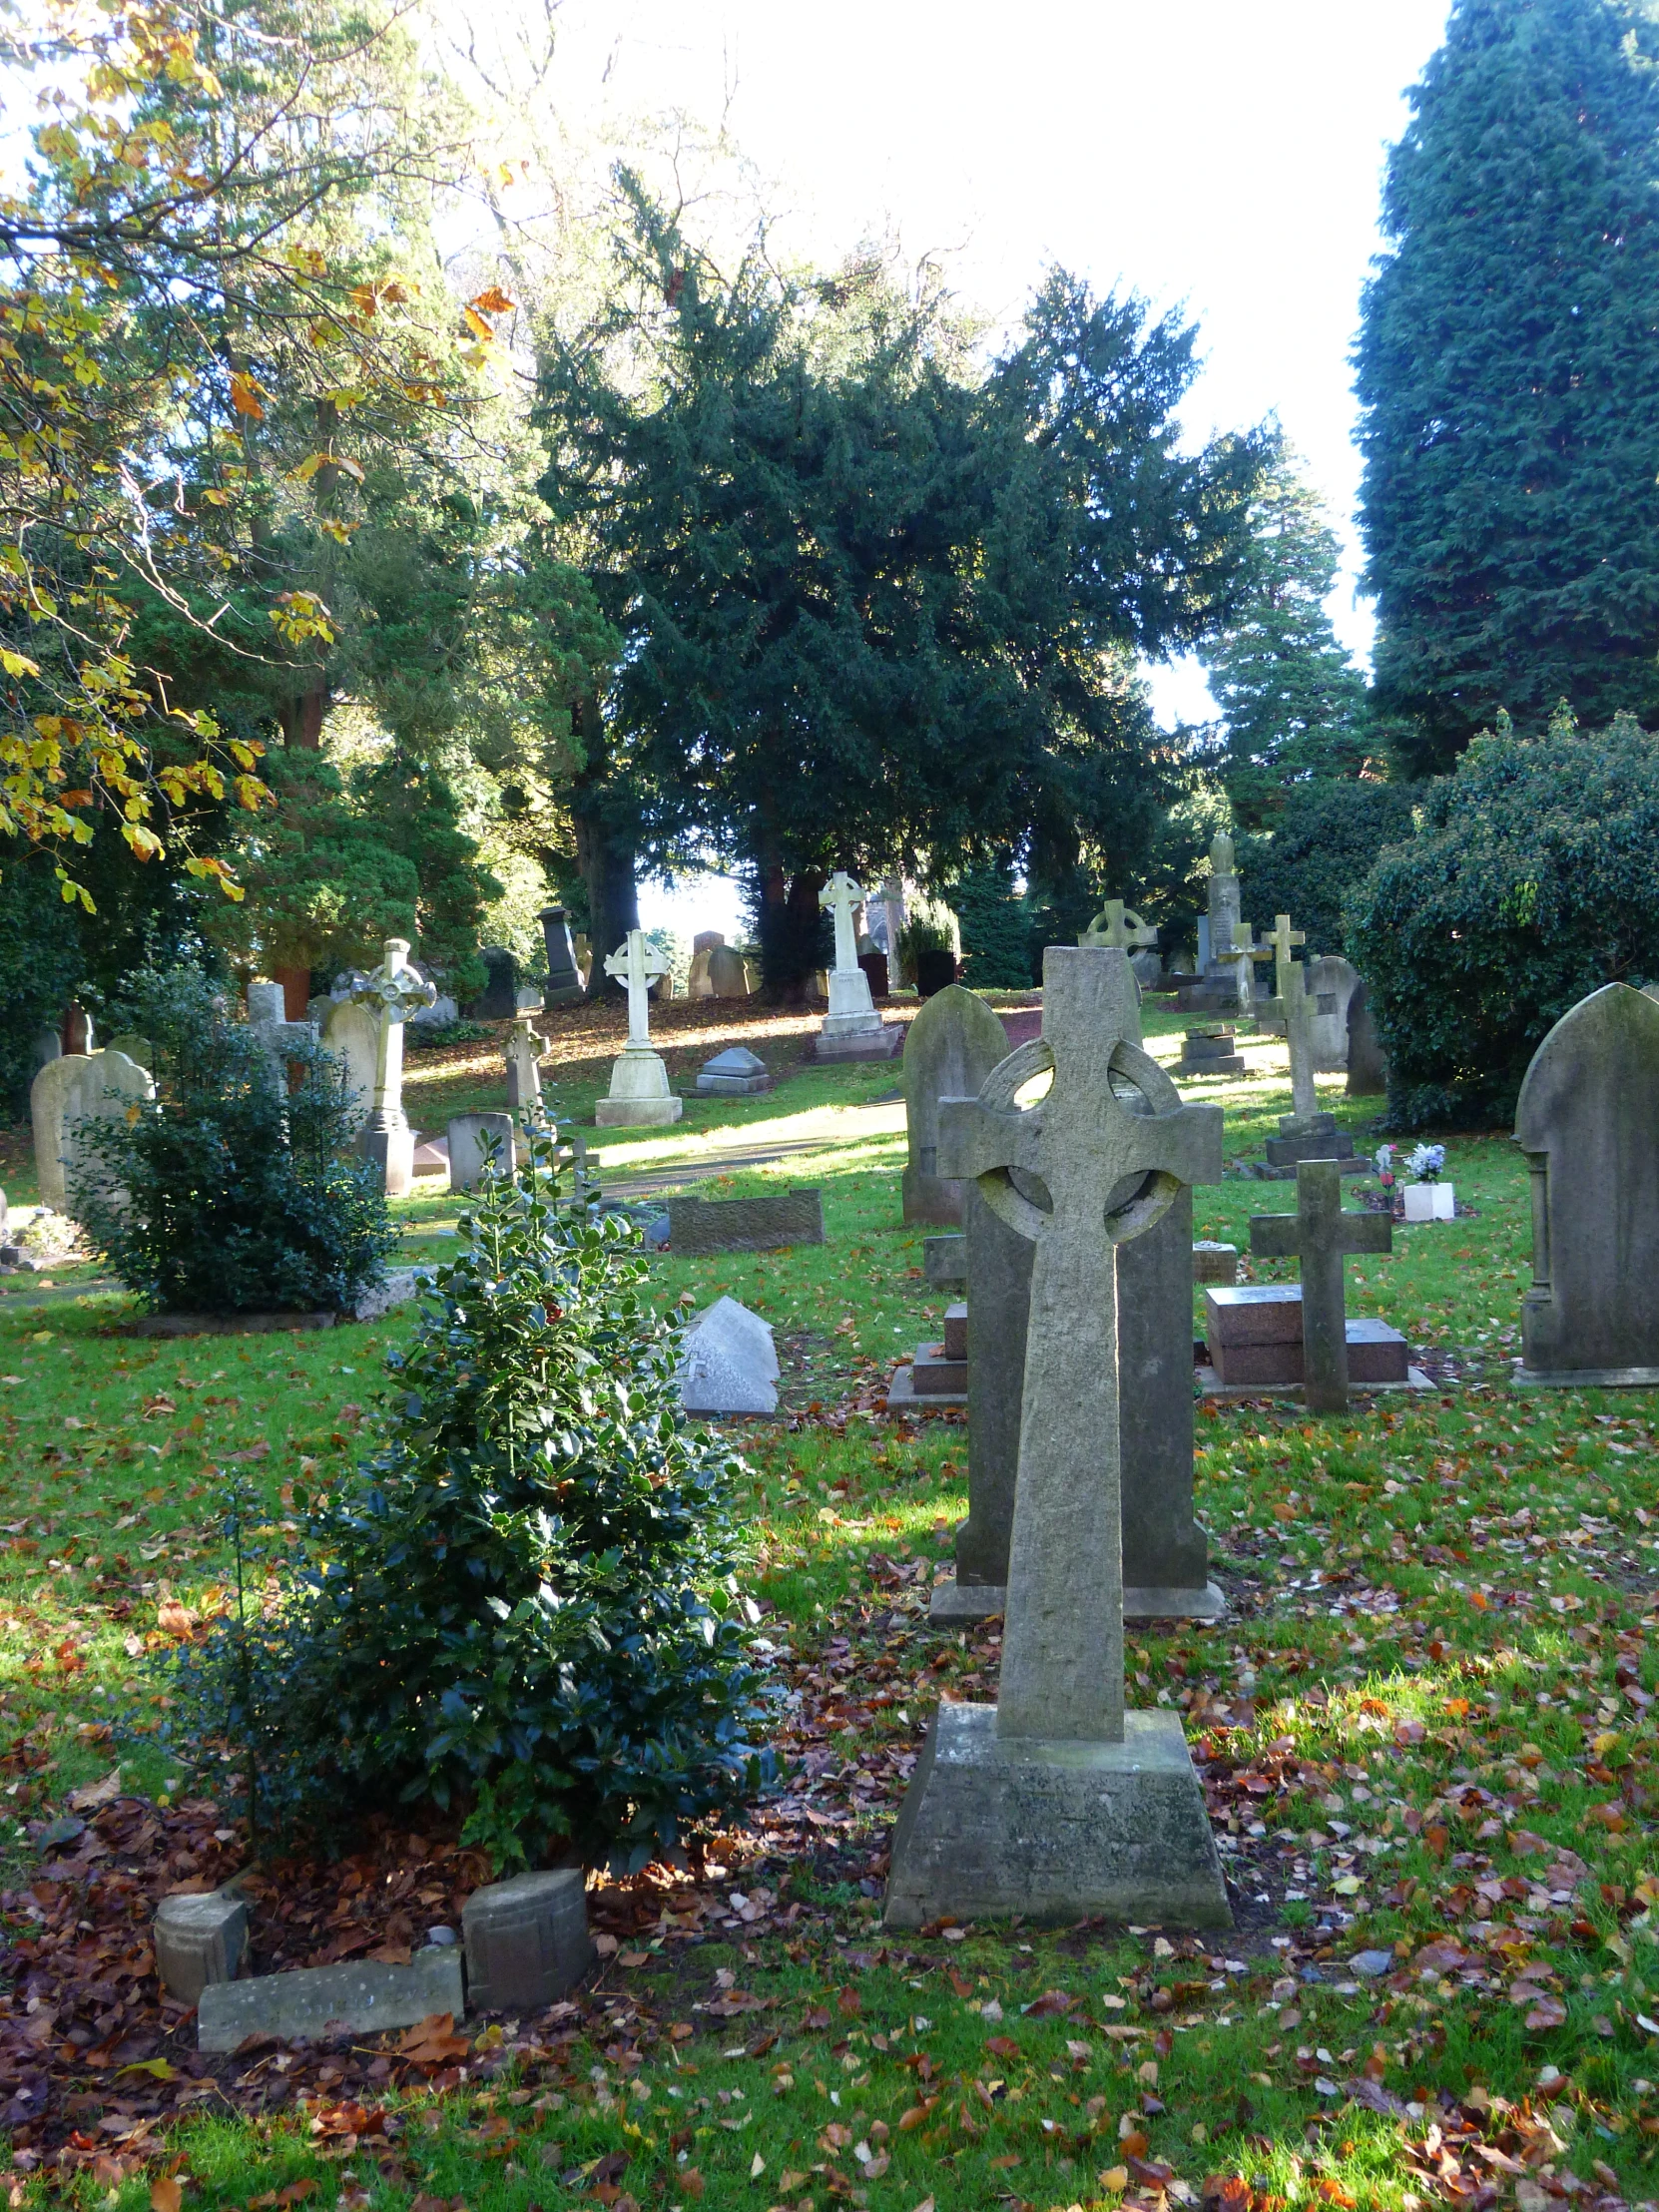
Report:
[{"label": "dark shrub behind the large rounded bush, right of the obelisk monument", "polygon": [[1411,836],[1420,783],[1321,776],[1285,796],[1272,834],[1239,838],[1243,909],[1259,931],[1287,914],[1310,953],[1343,949],[1343,900],[1376,867],[1385,845]]}]

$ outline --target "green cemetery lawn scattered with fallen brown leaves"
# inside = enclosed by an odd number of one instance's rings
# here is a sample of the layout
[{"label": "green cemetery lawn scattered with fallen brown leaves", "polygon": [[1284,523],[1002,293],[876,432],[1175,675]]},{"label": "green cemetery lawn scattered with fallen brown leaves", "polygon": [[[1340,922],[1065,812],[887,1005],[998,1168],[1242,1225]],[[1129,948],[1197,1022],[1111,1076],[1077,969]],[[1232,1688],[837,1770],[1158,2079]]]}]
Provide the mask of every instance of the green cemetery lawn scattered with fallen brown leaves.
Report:
[{"label": "green cemetery lawn scattered with fallen brown leaves", "polygon": [[[677,1077],[757,1033],[781,1064],[799,1051],[792,1031],[768,1037],[732,1009],[721,1026],[684,1013],[706,1026],[686,1024]],[[1150,1013],[1161,1057],[1177,1031]],[[562,1113],[591,1119],[608,1051],[571,1024],[553,1071]],[[431,1106],[500,1104],[498,1057],[471,1057],[434,1068],[427,1091],[416,1064],[422,1126],[440,1126]],[[1283,1046],[1245,1057],[1248,1079],[1188,1086],[1228,1108],[1230,1172],[1197,1194],[1194,1225],[1241,1248],[1252,1212],[1294,1199],[1237,1172],[1290,1108]],[[896,1079],[894,1066],[799,1073],[763,1099],[697,1104],[648,1141],[604,1139],[608,1172],[666,1172],[710,1139],[821,1135],[823,1150],[697,1188],[816,1183],[830,1241],[653,1263],[666,1301],[732,1292],[785,1354],[785,1411],[745,1427],[743,1506],[787,1772],[697,1874],[595,1887],[599,1971],[551,2017],[208,2064],[157,2006],[150,1900],[221,1880],[243,1838],[201,1801],[173,1803],[175,1770],[126,1734],[157,1721],[146,1646],[188,1632],[223,1582],[217,1471],[252,1473],[281,1517],[301,1473],[347,1467],[411,1316],[159,1345],[117,1334],[117,1296],[11,1279],[0,2117],[13,2205],[64,2190],[175,2212],[170,2179],[186,2208],[323,2212],[1206,2197],[1228,2212],[1546,2212],[1659,2197],[1652,1402],[1511,1389],[1528,1201],[1504,1137],[1451,1141],[1467,1214],[1396,1228],[1391,1256],[1349,1263],[1349,1312],[1405,1329],[1444,1389],[1358,1400],[1336,1420],[1272,1400],[1201,1409],[1197,1498],[1230,1615],[1135,1635],[1130,1699],[1186,1714],[1234,1931],[883,1936],[887,1836],[927,1719],[940,1694],[991,1697],[998,1668],[995,1624],[927,1624],[964,1511],[964,1431],[874,1418],[889,1367],[936,1334],[942,1305],[920,1276],[922,1232],[898,1219],[902,1115],[876,1104]],[[836,1102],[858,1110],[834,1115]],[[1369,1102],[1332,1091],[1327,1104],[1367,1128]],[[409,1250],[440,1254],[456,1212],[411,1201]],[[40,1823],[117,1763],[119,1796],[42,1867]],[[407,1940],[425,1916],[453,1920],[480,1871],[442,1836],[411,1843],[389,1823],[352,1865],[292,1876],[303,1911],[279,1942],[276,1905],[263,1907],[265,1955],[358,1955],[398,1940],[398,1913]],[[281,1900],[283,1880],[268,1891]]]}]

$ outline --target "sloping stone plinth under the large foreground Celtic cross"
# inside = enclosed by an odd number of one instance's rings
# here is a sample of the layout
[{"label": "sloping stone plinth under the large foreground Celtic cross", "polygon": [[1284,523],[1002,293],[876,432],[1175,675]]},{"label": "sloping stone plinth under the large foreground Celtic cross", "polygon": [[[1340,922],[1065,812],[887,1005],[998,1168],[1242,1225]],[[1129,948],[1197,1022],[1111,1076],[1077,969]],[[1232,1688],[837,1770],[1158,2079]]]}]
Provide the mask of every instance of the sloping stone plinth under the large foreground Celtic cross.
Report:
[{"label": "sloping stone plinth under the large foreground Celtic cross", "polygon": [[995,1705],[940,1705],[905,1792],[887,1927],[1110,1920],[1232,1927],[1199,1776],[1172,1712],[1121,1743],[998,1736]]}]

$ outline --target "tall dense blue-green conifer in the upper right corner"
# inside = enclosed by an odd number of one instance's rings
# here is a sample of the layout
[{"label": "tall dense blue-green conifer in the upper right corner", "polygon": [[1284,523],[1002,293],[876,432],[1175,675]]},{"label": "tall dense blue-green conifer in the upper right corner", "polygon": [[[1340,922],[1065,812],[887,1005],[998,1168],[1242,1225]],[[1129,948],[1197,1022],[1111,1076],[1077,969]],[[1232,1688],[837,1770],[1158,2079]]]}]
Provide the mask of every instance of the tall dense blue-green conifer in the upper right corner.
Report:
[{"label": "tall dense blue-green conifer in the upper right corner", "polygon": [[1500,708],[1659,712],[1655,58],[1646,0],[1455,0],[1394,148],[1356,367],[1413,772]]}]

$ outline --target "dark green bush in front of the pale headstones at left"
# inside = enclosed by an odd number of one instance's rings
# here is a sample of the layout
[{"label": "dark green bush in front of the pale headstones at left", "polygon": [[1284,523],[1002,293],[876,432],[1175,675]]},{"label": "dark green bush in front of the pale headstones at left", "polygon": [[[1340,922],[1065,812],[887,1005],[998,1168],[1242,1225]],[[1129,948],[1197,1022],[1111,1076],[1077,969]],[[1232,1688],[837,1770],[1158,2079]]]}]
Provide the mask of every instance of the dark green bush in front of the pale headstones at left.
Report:
[{"label": "dark green bush in front of the pale headstones at left", "polygon": [[356,1113],[321,1046],[279,1091],[246,1022],[195,969],[146,969],[113,1026],[150,1037],[155,1088],[88,1124],[71,1206],[113,1272],[161,1312],[345,1312],[396,1241]]}]

